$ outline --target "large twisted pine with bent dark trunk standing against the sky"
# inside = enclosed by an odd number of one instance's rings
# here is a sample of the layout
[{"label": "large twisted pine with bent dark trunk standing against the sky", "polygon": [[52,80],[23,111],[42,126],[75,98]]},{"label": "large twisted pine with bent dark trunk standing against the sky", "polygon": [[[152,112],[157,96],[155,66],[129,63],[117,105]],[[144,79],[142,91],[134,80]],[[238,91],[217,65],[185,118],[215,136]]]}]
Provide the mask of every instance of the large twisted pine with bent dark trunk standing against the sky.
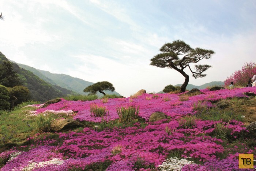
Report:
[{"label": "large twisted pine with bent dark trunk standing against the sky", "polygon": [[204,77],[206,74],[203,74],[203,72],[210,68],[210,65],[195,65],[195,70],[192,70],[190,64],[197,63],[202,59],[210,59],[211,55],[214,54],[212,50],[202,48],[193,49],[182,40],[174,40],[172,43],[165,43],[159,51],[162,53],[150,59],[150,65],[160,68],[167,67],[180,72],[185,77],[185,81],[181,86],[181,92],[186,91],[189,82],[189,76],[185,73],[184,69],[188,67],[194,78]]}]

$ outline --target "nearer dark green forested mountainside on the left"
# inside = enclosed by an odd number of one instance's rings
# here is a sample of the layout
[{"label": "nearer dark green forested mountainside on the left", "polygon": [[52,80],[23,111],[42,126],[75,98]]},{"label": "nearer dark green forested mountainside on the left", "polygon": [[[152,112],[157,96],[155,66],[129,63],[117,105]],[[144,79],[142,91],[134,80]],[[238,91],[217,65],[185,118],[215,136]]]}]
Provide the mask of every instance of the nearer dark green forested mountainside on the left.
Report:
[{"label": "nearer dark green forested mountainside on the left", "polygon": [[[0,63],[8,59],[0,52]],[[47,100],[57,97],[67,96],[68,94],[75,94],[75,92],[49,84],[46,81],[40,79],[34,75],[33,72],[20,68],[18,64],[12,63],[14,71],[18,73],[18,76],[22,82],[22,86],[29,88],[31,100],[46,102]]]}]

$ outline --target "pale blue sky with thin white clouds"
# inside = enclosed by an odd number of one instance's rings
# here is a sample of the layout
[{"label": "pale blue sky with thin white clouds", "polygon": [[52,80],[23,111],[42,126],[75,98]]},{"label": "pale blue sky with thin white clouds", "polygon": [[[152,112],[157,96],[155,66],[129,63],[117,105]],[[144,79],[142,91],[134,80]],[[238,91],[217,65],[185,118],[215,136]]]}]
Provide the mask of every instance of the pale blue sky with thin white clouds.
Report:
[{"label": "pale blue sky with thin white clouds", "polygon": [[[183,40],[215,52],[196,86],[224,81],[256,62],[255,0],[0,0],[0,52],[52,73],[109,81],[123,96],[159,92],[185,78],[150,65],[159,48]],[[191,65],[193,68],[193,65]]]}]

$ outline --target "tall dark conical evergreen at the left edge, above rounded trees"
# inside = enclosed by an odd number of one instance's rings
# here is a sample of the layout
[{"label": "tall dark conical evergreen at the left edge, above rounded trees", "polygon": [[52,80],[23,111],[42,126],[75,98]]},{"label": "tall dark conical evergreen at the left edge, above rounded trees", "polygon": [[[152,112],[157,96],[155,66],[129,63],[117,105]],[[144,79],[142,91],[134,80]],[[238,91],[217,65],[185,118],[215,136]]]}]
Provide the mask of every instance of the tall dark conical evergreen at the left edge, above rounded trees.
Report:
[{"label": "tall dark conical evergreen at the left edge, above rounded trees", "polygon": [[18,74],[14,71],[10,61],[3,61],[0,64],[0,84],[5,87],[21,85]]}]

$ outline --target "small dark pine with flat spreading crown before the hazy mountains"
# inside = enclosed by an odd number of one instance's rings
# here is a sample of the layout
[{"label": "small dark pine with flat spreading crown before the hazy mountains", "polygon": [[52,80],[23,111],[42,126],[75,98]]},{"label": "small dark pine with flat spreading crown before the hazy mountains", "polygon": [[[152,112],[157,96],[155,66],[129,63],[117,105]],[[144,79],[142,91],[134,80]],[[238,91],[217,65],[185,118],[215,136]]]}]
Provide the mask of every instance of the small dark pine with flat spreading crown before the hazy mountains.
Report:
[{"label": "small dark pine with flat spreading crown before the hazy mountains", "polygon": [[90,92],[90,94],[96,94],[98,91],[105,96],[106,94],[103,92],[103,90],[114,91],[115,88],[113,87],[113,84],[109,83],[108,81],[102,81],[86,87],[83,91]]}]

